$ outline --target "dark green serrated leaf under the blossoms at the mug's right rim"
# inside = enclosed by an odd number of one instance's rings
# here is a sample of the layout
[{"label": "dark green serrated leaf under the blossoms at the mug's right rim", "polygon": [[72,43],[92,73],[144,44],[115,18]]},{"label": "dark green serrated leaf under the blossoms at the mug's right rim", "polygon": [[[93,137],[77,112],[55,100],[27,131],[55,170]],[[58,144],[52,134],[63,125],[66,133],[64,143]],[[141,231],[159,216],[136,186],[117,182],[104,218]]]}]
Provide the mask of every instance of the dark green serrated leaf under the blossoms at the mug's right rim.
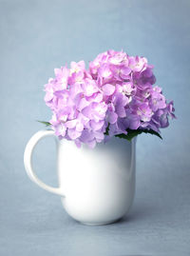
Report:
[{"label": "dark green serrated leaf under the blossoms at the mug's right rim", "polygon": [[161,134],[159,132],[153,130],[153,129],[130,129],[130,128],[127,128],[126,131],[127,131],[127,134],[121,133],[121,134],[117,134],[115,136],[118,137],[118,138],[121,138],[121,139],[131,141],[134,137],[136,137],[139,134],[141,134],[142,132],[144,132],[144,133],[149,133],[149,134],[152,134],[152,135],[156,135],[159,138],[161,138]]}]

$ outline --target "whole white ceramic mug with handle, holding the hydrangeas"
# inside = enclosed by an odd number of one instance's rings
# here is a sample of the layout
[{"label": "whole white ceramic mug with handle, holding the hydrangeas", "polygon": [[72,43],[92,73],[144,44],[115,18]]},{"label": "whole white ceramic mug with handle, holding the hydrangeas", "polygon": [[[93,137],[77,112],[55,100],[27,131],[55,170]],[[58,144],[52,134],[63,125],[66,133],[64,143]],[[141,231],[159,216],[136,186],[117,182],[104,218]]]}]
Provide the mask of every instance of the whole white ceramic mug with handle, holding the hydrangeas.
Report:
[{"label": "whole white ceramic mug with handle, holding the hydrangeas", "polygon": [[[49,187],[33,172],[32,152],[43,137],[57,141],[59,187]],[[40,130],[28,141],[24,164],[29,178],[38,186],[61,196],[66,212],[85,225],[105,225],[121,219],[132,205],[135,193],[135,147],[112,137],[93,149],[59,140],[53,130]]]}]

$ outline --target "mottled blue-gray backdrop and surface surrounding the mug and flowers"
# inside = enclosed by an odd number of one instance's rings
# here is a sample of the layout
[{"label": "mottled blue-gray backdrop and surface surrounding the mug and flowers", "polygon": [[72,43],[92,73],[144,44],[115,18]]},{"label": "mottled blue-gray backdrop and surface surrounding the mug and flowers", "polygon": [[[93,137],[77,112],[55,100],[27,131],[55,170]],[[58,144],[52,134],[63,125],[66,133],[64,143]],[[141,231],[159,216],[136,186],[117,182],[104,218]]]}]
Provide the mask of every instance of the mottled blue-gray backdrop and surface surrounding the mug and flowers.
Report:
[{"label": "mottled blue-gray backdrop and surface surrounding the mug and flowers", "polygon": [[[0,255],[189,255],[190,1],[0,1]],[[29,137],[48,120],[43,85],[53,69],[87,63],[106,49],[143,55],[178,119],[163,140],[137,142],[137,189],[128,218],[82,226],[60,198],[31,183]],[[36,150],[36,172],[56,186],[52,140]]]}]

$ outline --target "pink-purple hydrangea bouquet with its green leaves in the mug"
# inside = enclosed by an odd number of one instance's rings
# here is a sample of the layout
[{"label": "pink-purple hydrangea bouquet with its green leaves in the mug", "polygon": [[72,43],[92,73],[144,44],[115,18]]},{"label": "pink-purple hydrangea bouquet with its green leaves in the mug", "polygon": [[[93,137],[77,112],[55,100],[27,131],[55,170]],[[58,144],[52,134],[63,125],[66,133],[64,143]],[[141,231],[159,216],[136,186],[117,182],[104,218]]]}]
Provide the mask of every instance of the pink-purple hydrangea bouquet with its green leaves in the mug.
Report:
[{"label": "pink-purple hydrangea bouquet with its green leaves in the mug", "polygon": [[161,138],[160,128],[175,118],[156,82],[153,66],[140,56],[107,50],[85,62],[55,69],[45,86],[52,118],[45,123],[60,138],[94,148],[112,136],[131,140],[142,132]]}]

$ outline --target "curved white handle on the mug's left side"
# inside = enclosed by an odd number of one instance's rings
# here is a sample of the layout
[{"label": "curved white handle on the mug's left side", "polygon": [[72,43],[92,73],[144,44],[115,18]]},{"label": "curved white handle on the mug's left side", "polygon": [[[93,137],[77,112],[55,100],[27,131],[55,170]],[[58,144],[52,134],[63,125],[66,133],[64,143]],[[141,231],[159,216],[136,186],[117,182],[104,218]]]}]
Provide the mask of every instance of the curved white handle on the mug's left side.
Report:
[{"label": "curved white handle on the mug's left side", "polygon": [[[51,129],[44,129],[44,130],[39,130],[37,131],[28,141],[27,147],[25,148],[25,153],[24,153],[24,165],[25,169],[28,173],[29,178],[36,183],[39,187],[42,187],[46,189],[49,192],[52,192],[57,195],[65,196],[63,192],[61,191],[60,187],[50,187],[40,181],[36,174],[33,171],[33,165],[32,165],[32,155],[33,155],[33,150],[35,146],[38,144],[38,142],[48,136],[55,136],[54,130]],[[56,137],[56,136],[55,136]]]}]

